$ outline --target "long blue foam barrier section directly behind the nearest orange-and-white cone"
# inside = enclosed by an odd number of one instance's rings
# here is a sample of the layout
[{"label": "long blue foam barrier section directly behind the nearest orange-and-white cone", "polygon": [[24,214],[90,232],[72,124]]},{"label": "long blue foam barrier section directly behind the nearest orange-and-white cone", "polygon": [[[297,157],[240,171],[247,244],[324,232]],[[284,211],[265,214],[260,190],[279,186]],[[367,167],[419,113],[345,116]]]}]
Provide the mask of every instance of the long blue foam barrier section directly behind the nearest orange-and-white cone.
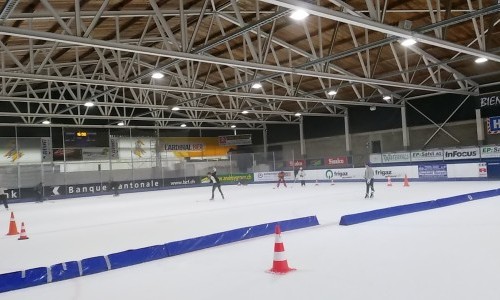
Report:
[{"label": "long blue foam barrier section directly behind the nearest orange-and-white cone", "polygon": [[280,224],[282,231],[305,228],[319,225],[316,216],[309,216],[299,219],[285,220],[274,223],[261,224],[251,227],[238,228],[230,231],[214,233],[206,236],[175,241],[165,244],[168,255],[175,256],[205,248],[220,246],[228,243],[242,241],[254,237],[264,236],[274,233],[274,227]]}]

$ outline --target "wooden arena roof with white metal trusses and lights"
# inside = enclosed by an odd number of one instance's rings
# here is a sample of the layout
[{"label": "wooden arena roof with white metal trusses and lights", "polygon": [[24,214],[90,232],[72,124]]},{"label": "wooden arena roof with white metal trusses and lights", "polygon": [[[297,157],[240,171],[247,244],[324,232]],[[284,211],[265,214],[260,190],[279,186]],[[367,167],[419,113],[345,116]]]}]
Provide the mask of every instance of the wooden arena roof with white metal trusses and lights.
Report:
[{"label": "wooden arena roof with white metal trusses and lights", "polygon": [[500,78],[497,0],[2,2],[2,126],[262,130]]}]

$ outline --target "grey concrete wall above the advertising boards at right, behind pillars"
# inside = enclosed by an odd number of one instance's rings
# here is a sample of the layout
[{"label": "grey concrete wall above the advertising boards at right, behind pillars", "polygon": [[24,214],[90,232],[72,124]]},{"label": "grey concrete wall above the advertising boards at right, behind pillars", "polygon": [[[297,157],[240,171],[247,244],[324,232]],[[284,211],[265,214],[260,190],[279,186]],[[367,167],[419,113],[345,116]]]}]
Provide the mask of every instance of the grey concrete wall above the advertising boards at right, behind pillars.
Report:
[{"label": "grey concrete wall above the advertising boards at right, behind pillars", "polygon": [[[455,139],[446,134],[443,130],[434,133],[438,127],[434,125],[418,126],[408,128],[409,148],[407,150],[420,150],[432,148],[450,148],[478,145],[475,120],[449,123],[443,129],[451,134]],[[484,122],[484,145],[500,144],[500,134],[492,135],[486,132],[486,121]],[[434,137],[432,137],[434,135]],[[432,137],[432,139],[430,139]],[[369,154],[372,153],[372,142],[380,141],[382,152],[404,151],[403,133],[401,129],[366,132],[351,134],[351,153],[354,166],[361,166],[368,161]],[[301,159],[300,142],[285,142],[273,145],[283,147],[283,159]],[[262,151],[261,148],[256,151]],[[328,156],[349,155],[346,152],[345,136],[331,136],[318,139],[306,139],[305,158],[319,158]]]}]

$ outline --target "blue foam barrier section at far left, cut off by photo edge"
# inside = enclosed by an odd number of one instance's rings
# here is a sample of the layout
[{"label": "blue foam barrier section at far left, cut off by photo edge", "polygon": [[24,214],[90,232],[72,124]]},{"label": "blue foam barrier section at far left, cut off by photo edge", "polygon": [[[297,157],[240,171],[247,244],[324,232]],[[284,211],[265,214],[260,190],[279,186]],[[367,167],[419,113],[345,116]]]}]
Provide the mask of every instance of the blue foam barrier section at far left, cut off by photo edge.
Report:
[{"label": "blue foam barrier section at far left, cut off by photo edge", "polygon": [[47,268],[40,267],[0,275],[0,293],[47,283]]}]

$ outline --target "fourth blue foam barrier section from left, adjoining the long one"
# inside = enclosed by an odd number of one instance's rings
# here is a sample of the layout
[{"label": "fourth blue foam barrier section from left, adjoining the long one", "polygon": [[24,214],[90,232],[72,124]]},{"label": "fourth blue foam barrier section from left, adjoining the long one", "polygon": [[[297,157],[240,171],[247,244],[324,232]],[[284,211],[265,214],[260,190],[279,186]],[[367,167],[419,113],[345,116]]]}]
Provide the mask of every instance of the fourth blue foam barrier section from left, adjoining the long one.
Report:
[{"label": "fourth blue foam barrier section from left, adjoining the long one", "polygon": [[157,245],[140,249],[127,250],[109,254],[111,269],[128,267],[168,256],[165,245]]}]

